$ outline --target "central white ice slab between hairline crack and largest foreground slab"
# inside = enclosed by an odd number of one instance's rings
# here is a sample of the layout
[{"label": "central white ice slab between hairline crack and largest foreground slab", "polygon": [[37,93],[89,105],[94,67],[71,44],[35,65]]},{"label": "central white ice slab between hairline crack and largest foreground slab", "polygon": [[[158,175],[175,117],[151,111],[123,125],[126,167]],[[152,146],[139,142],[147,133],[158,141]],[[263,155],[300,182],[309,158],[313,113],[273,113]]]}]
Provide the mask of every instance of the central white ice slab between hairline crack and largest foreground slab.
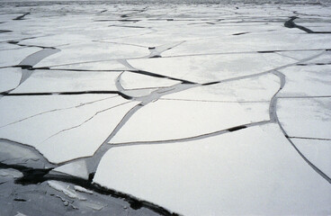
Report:
[{"label": "central white ice slab between hairline crack and largest foreground slab", "polygon": [[267,112],[244,110],[237,103],[159,100],[135,112],[110,143],[184,139],[227,130],[255,119],[265,121],[269,116]]}]

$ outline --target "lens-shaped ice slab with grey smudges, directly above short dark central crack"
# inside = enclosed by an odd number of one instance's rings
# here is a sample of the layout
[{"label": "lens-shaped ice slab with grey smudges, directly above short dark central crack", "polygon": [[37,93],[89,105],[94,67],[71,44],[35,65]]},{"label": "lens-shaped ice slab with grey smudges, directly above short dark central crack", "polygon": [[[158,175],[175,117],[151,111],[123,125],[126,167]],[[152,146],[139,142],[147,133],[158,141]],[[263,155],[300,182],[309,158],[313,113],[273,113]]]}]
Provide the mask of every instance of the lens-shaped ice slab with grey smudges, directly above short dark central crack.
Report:
[{"label": "lens-shaped ice slab with grey smudges, directly above short dark central crack", "polygon": [[[273,53],[204,55],[176,58],[128,60],[132,67],[163,76],[208,83],[237,76],[248,76],[294,63]],[[240,62],[240,64],[238,64]]]}]

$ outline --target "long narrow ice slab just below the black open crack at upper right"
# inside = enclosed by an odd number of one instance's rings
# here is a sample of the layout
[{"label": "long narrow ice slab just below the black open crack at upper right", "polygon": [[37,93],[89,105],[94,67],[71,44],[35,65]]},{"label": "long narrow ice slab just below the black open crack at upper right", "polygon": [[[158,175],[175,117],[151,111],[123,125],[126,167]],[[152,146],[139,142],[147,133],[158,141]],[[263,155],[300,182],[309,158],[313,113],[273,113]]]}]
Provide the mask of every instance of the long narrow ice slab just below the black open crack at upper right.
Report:
[{"label": "long narrow ice slab just below the black open crack at upper right", "polygon": [[[282,35],[282,37],[280,37]],[[273,50],[309,50],[328,49],[331,41],[329,34],[309,34],[291,29],[228,36],[214,39],[187,41],[181,46],[165,51],[164,57],[184,56],[192,54],[231,53],[231,52],[257,52]]]}]

